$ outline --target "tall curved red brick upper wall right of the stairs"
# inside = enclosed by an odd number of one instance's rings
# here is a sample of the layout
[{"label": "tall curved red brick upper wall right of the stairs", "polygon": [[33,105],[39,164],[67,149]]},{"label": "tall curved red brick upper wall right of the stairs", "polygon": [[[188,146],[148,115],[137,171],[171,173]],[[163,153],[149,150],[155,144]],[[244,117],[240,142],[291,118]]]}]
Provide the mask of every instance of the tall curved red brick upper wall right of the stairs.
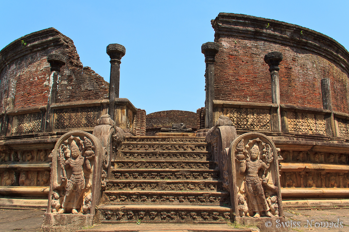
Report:
[{"label": "tall curved red brick upper wall right of the stairs", "polygon": [[213,27],[220,46],[216,100],[271,103],[269,66],[263,58],[280,51],[281,104],[322,109],[321,79],[330,78],[333,109],[349,113],[349,54],[333,39],[297,25],[227,13],[218,15]]}]

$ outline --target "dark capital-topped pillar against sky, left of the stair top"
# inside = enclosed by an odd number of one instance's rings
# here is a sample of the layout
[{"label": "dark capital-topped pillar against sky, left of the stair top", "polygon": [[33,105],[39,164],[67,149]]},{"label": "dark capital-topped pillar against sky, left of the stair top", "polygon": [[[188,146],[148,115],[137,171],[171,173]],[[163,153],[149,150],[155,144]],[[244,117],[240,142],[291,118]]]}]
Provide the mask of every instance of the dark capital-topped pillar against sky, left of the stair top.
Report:
[{"label": "dark capital-topped pillar against sky, left of the stair top", "polygon": [[110,81],[109,81],[109,115],[114,119],[115,98],[119,98],[120,64],[126,49],[118,43],[107,46],[107,54],[110,57]]}]

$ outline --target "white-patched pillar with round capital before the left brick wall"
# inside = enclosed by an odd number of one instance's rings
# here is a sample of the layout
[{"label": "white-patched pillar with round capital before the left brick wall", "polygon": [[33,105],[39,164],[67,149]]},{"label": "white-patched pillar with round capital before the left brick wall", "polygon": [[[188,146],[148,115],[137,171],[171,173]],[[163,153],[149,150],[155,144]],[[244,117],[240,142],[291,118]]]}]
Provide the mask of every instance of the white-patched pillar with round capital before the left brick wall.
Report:
[{"label": "white-patched pillar with round capital before the left brick wall", "polygon": [[47,101],[46,120],[43,117],[42,128],[45,127],[45,132],[51,132],[53,127],[53,110],[51,109],[51,105],[57,101],[59,72],[61,71],[61,67],[65,65],[65,58],[62,55],[53,53],[47,56],[47,62],[51,66],[50,90]]}]

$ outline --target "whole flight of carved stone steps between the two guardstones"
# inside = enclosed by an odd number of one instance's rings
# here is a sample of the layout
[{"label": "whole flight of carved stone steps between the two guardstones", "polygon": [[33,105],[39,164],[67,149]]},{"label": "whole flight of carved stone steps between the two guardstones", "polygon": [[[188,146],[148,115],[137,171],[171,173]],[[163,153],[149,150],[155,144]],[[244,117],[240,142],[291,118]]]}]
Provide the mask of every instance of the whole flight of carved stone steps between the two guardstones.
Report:
[{"label": "whole flight of carved stone steps between the two guardstones", "polygon": [[102,224],[222,224],[232,218],[229,193],[200,137],[126,137],[102,201]]}]

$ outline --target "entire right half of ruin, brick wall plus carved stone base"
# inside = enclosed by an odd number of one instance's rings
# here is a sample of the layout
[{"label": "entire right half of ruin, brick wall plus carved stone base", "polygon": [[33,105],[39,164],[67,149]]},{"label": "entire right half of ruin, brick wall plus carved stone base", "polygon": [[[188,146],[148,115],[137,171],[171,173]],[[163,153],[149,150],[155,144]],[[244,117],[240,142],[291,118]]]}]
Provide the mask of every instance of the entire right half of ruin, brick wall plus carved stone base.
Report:
[{"label": "entire right half of ruin, brick wall plus carved stone base", "polygon": [[220,13],[211,24],[219,51],[206,102],[214,121],[223,114],[238,134],[263,133],[281,149],[283,200],[348,196],[348,51],[265,18]]}]

